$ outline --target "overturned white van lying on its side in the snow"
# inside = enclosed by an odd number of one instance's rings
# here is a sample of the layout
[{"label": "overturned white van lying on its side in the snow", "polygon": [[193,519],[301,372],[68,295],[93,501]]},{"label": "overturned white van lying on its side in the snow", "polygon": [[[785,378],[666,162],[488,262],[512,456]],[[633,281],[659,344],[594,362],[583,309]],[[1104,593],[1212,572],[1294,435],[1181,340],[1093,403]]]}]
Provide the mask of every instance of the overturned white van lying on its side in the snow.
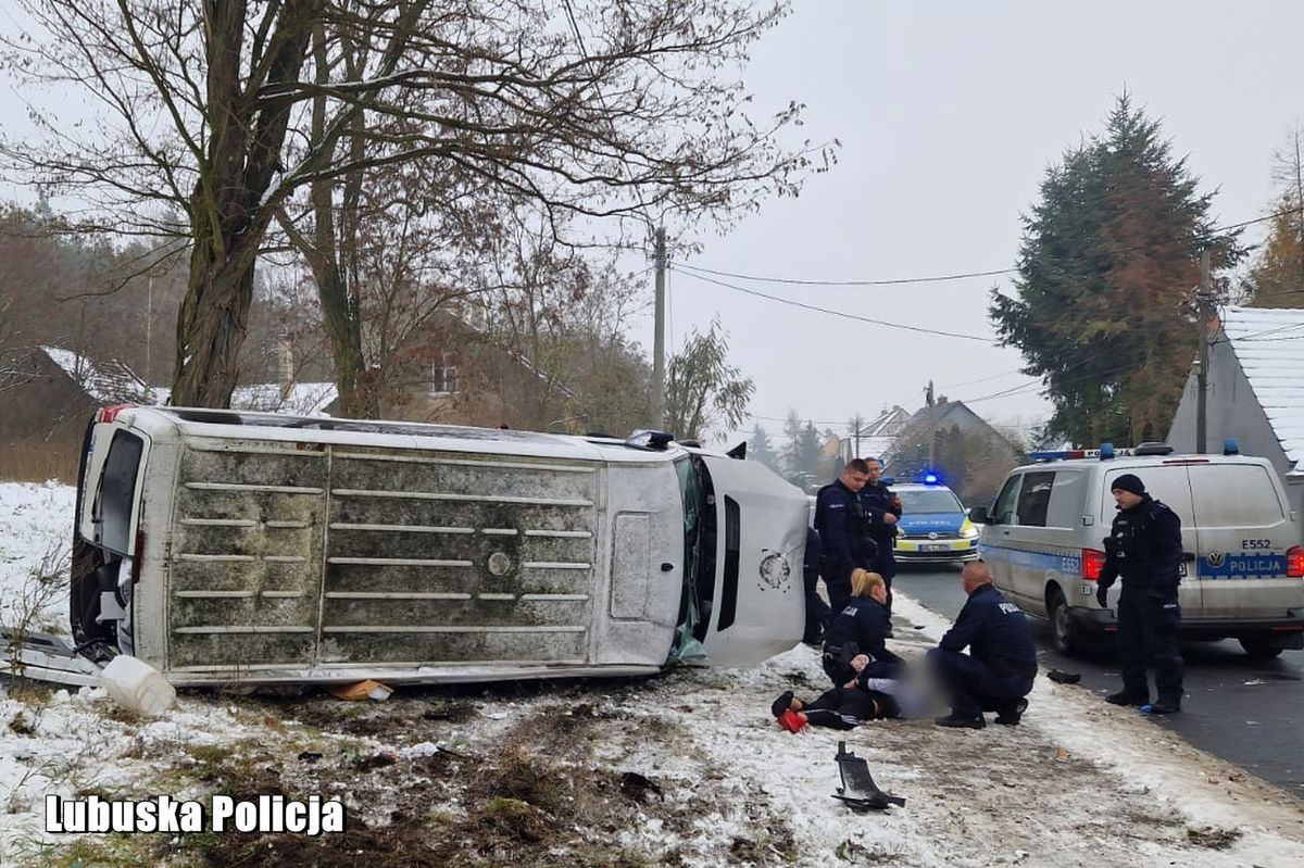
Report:
[{"label": "overturned white van lying on its side in the snow", "polygon": [[806,512],[765,467],[661,434],[108,408],[72,629],[175,684],[750,665],[801,639]]}]

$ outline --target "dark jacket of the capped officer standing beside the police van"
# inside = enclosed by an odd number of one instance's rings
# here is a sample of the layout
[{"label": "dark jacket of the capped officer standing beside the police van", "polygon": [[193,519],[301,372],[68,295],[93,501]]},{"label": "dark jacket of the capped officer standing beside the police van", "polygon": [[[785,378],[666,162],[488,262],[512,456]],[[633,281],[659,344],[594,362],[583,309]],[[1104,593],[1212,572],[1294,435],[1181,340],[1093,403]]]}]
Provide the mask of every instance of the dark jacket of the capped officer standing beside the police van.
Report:
[{"label": "dark jacket of the capped officer standing beside the police van", "polygon": [[1099,581],[1107,588],[1119,576],[1162,590],[1181,581],[1181,519],[1149,494],[1131,510],[1119,510],[1104,540]]}]

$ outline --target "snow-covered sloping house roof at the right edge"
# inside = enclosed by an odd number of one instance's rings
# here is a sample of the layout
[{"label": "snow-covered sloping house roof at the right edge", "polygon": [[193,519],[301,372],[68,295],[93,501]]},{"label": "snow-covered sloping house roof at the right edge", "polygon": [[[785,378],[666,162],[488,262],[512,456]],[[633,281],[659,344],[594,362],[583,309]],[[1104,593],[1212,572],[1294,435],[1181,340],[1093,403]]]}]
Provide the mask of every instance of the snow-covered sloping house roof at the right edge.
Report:
[{"label": "snow-covered sloping house roof at the right edge", "polygon": [[1304,310],[1223,308],[1223,334],[1291,461],[1304,459]]}]

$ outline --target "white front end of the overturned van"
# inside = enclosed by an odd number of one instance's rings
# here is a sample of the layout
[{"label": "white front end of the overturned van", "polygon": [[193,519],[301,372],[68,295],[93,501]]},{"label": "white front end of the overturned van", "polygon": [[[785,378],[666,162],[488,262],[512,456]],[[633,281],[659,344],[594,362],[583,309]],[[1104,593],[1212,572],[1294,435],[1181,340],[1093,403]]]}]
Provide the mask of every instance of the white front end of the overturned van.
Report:
[{"label": "white front end of the overturned van", "polygon": [[703,645],[713,666],[790,649],[805,629],[806,495],[758,461],[702,455],[716,510],[716,583]]}]

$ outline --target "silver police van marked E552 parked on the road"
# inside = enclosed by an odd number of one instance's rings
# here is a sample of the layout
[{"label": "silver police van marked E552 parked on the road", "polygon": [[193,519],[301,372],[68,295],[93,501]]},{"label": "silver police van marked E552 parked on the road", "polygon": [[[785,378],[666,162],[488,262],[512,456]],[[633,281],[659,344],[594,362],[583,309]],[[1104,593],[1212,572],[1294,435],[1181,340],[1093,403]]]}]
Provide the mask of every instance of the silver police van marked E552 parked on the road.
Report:
[{"label": "silver police van marked E552 parked on the road", "polygon": [[990,508],[974,508],[978,549],[996,586],[1024,611],[1047,618],[1056,648],[1082,649],[1118,629],[1119,585],[1095,600],[1103,540],[1116,506],[1111,484],[1141,477],[1181,519],[1181,633],[1235,637],[1254,657],[1304,648],[1304,549],[1300,525],[1267,459],[1174,455],[1166,444],[1115,451],[1034,452],[1015,468]]}]

